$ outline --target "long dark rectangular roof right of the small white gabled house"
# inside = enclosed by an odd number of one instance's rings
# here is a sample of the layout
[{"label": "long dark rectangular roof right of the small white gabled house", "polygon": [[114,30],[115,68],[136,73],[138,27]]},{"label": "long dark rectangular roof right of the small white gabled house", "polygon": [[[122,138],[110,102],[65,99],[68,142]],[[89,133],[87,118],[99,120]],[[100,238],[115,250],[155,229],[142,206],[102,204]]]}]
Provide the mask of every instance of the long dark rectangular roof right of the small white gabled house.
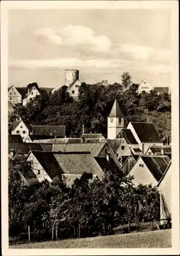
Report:
[{"label": "long dark rectangular roof right of the small white gabled house", "polygon": [[64,125],[31,125],[33,135],[65,137]]}]

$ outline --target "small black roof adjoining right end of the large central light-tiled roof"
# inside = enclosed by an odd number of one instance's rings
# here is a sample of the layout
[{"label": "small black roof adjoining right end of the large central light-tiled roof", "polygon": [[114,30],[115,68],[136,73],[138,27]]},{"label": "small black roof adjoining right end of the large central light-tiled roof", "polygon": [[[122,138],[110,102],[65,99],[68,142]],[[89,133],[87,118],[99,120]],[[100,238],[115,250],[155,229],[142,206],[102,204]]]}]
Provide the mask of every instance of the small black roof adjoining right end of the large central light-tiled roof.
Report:
[{"label": "small black roof adjoining right end of the large central light-tiled roof", "polygon": [[109,158],[109,161],[106,157],[94,157],[98,164],[100,165],[101,169],[105,171],[111,171],[113,173],[118,173],[121,176],[123,175],[122,171],[118,168],[117,164],[113,160],[113,158]]}]

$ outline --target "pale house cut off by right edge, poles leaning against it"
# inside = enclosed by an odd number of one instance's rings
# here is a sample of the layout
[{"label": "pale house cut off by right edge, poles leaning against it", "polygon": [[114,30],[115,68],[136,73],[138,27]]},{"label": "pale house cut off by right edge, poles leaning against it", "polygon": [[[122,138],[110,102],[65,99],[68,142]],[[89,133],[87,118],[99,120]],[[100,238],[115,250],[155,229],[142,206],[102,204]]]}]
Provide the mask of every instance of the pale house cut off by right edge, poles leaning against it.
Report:
[{"label": "pale house cut off by right edge, poles leaning against it", "polygon": [[[162,220],[171,217],[171,175],[172,165],[170,162],[157,185],[161,196],[160,214]],[[165,221],[161,221],[161,224],[165,224]]]}]

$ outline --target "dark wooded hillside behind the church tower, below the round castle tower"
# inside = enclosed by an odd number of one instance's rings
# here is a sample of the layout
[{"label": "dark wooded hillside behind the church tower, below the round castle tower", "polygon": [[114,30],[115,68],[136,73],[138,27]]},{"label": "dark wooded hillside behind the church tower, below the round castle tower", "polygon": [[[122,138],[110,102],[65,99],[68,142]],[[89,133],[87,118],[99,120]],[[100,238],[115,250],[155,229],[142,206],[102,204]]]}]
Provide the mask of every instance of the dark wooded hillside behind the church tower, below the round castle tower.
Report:
[{"label": "dark wooded hillside behind the church tower, below the round castle tower", "polygon": [[[107,116],[115,98],[128,121],[147,121],[147,116],[153,117],[154,113],[158,113],[159,116],[167,113],[168,116],[163,118],[171,118],[170,95],[158,95],[154,91],[138,94],[138,84],[131,81],[128,72],[123,73],[122,84],[103,86],[100,83],[82,83],[78,100],[74,100],[67,89],[66,86],[62,86],[54,94],[49,95],[41,90],[41,95],[36,96],[26,107],[16,105],[15,112],[9,115],[9,121],[13,121],[18,115],[27,124],[65,125],[68,137],[79,136],[84,124],[86,133],[103,133],[106,136]],[[166,120],[163,123],[167,123]],[[161,124],[156,128],[161,133]],[[166,129],[169,127],[163,126],[163,130]]]}]

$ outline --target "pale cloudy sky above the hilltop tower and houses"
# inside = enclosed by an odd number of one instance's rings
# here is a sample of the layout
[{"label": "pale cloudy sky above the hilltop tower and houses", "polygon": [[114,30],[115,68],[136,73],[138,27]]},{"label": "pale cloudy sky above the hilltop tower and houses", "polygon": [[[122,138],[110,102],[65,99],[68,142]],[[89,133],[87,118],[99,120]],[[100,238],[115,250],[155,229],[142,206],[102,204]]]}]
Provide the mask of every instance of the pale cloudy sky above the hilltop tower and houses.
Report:
[{"label": "pale cloudy sky above the hilltop tower and houses", "polygon": [[147,79],[170,87],[169,9],[9,10],[8,85],[64,84],[64,69],[86,83]]}]

